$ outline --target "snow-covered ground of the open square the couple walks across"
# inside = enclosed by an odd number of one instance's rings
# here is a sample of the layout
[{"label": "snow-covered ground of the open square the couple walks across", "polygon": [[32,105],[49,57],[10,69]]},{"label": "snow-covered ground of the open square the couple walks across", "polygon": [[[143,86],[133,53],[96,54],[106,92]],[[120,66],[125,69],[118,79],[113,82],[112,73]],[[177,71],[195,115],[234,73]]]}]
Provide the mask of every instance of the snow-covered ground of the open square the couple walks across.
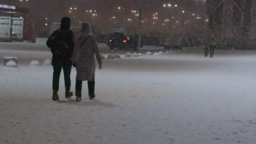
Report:
[{"label": "snow-covered ground of the open square the couple walks across", "polygon": [[0,67],[0,144],[254,144],[256,53],[216,53],[105,59],[96,99],[84,82],[77,103],[64,99],[63,74],[56,102],[52,67],[29,66],[51,59],[43,43],[0,43],[19,67]]}]

